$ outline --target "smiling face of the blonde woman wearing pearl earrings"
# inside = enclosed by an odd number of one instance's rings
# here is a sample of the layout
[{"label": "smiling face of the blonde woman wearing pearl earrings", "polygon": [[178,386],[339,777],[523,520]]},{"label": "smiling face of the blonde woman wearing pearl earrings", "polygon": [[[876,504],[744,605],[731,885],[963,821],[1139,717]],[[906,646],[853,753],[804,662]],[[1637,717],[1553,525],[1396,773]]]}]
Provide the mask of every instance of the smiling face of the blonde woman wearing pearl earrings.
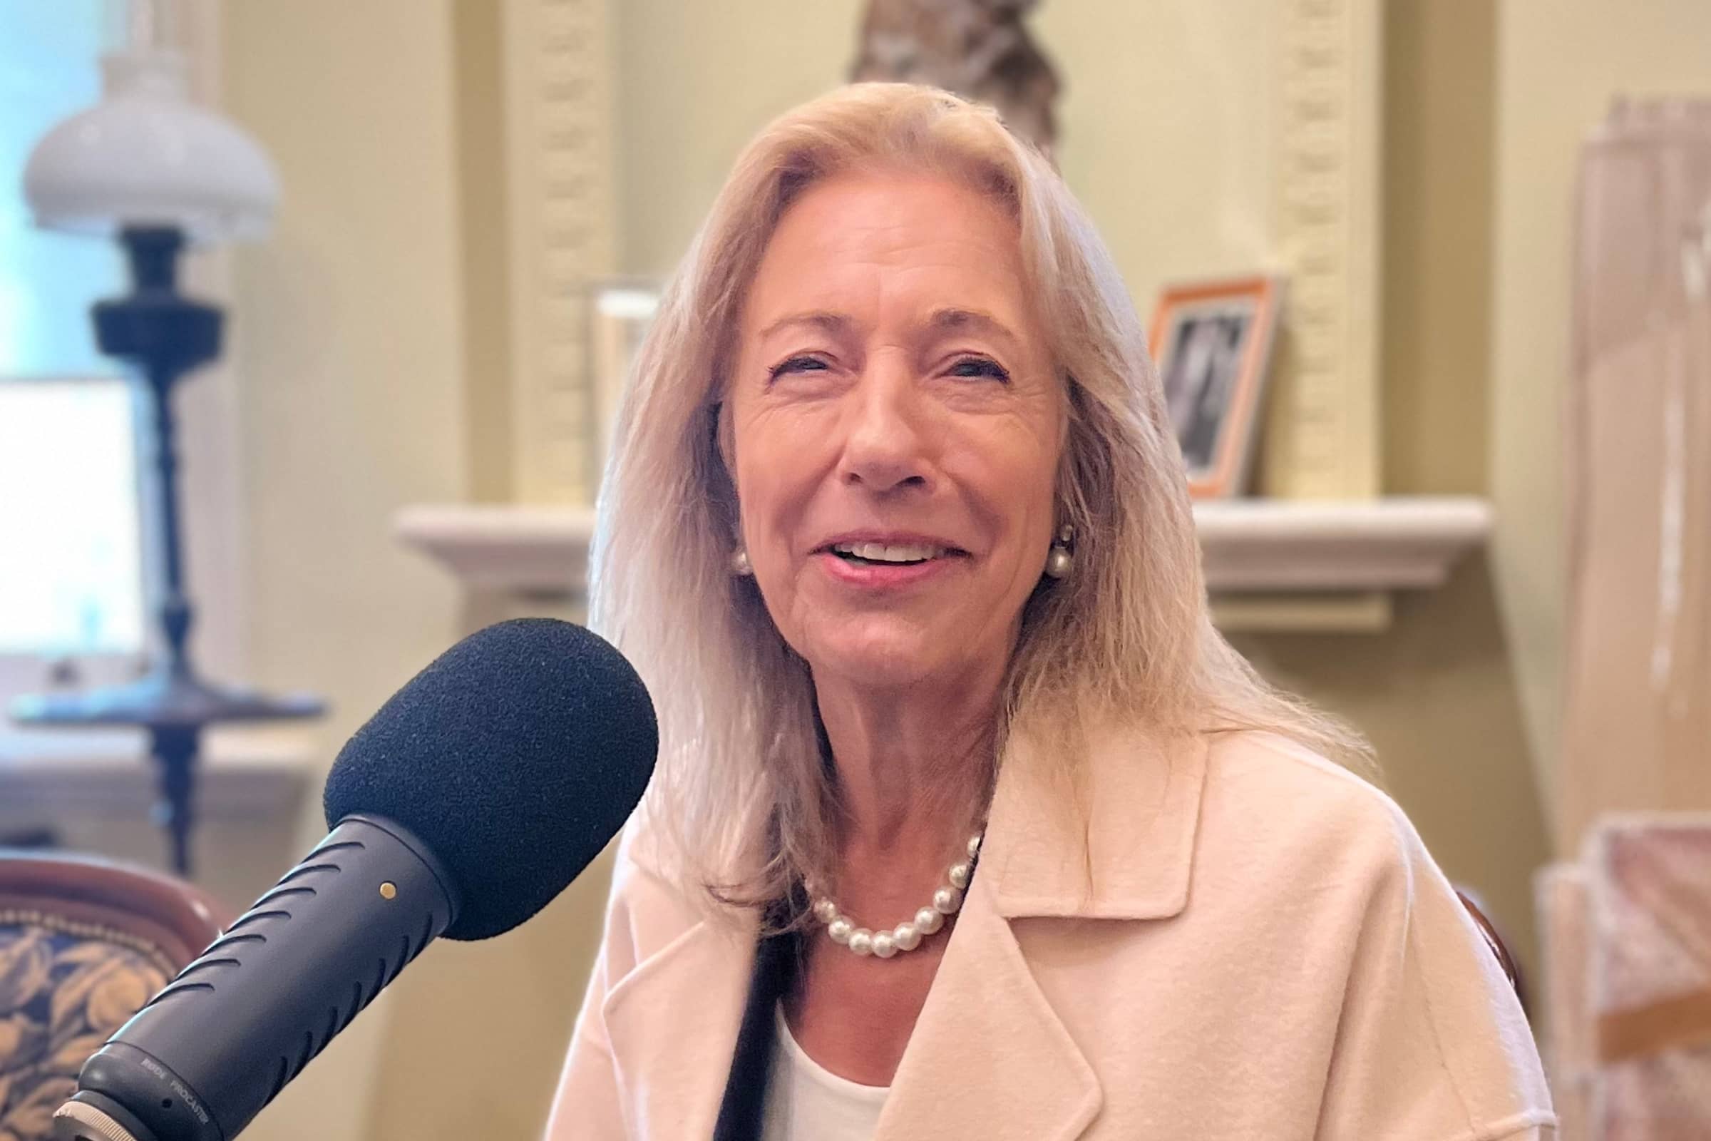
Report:
[{"label": "smiling face of the blonde woman wearing pearl earrings", "polygon": [[725,395],[755,578],[818,683],[1003,669],[1066,416],[994,202],[907,173],[806,190],[749,286]]}]

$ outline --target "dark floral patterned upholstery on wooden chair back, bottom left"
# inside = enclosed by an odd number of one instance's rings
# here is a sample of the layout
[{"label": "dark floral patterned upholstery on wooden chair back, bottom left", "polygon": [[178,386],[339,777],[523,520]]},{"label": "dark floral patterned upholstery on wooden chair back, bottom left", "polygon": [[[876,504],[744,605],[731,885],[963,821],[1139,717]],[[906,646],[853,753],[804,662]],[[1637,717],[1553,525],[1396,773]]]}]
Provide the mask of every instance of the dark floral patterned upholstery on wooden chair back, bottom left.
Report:
[{"label": "dark floral patterned upholstery on wooden chair back, bottom left", "polygon": [[44,1141],[77,1071],[166,985],[135,941],[0,912],[0,1141]]}]

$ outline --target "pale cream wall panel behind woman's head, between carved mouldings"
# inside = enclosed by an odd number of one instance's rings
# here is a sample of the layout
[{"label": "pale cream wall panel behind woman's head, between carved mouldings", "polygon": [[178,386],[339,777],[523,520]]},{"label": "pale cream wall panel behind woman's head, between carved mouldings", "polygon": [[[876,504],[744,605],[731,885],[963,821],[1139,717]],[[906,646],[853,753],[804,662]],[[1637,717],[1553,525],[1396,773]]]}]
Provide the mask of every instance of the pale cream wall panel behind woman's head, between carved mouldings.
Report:
[{"label": "pale cream wall panel behind woman's head, between carved mouldings", "polygon": [[[859,0],[616,7],[621,270],[664,274],[743,144],[844,82]],[[1138,299],[1268,260],[1271,0],[1045,3],[1064,176]],[[1170,156],[1163,168],[1155,156]]]}]

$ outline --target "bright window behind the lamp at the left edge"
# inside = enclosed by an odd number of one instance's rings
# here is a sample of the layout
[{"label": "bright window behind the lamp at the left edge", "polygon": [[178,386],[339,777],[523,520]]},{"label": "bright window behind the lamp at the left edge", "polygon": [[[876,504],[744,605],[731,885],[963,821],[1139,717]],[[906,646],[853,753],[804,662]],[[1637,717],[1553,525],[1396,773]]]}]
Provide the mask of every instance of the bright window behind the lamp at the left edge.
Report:
[{"label": "bright window behind the lamp at the left edge", "polygon": [[51,659],[111,681],[144,643],[133,393],[89,322],[123,267],[33,228],[22,192],[36,140],[99,99],[115,7],[0,0],[0,705]]}]

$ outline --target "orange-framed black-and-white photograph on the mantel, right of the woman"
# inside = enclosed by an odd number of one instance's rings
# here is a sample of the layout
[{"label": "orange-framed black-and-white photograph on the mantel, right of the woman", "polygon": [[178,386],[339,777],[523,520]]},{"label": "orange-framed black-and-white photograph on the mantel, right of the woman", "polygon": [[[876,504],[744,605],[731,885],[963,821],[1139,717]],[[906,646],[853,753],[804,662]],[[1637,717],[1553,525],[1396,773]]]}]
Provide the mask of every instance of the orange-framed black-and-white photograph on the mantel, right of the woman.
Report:
[{"label": "orange-framed black-and-white photograph on the mantel, right of the woman", "polygon": [[1283,281],[1264,275],[1170,286],[1158,298],[1148,347],[1196,500],[1247,488],[1282,301]]}]

